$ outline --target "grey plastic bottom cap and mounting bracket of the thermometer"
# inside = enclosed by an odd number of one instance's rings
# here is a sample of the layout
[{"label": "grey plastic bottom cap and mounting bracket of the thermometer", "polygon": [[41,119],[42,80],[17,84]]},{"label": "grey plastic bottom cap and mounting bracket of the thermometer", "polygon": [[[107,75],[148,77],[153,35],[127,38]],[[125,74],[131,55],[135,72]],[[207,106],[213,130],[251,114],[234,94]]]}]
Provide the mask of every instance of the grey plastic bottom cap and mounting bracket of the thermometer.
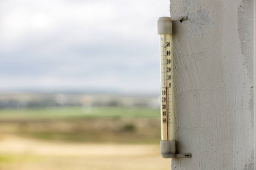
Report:
[{"label": "grey plastic bottom cap and mounting bracket of the thermometer", "polygon": [[177,154],[175,141],[160,141],[163,158],[191,158],[191,154]]}]

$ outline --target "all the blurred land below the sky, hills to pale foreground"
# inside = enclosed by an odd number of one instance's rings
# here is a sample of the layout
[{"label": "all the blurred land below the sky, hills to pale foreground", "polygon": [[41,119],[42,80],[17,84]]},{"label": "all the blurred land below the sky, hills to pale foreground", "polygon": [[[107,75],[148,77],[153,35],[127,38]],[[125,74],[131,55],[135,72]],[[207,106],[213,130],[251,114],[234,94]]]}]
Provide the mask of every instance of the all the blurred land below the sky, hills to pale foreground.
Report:
[{"label": "all the blurred land below the sky, hills to pale foreground", "polygon": [[0,169],[166,169],[158,96],[0,95]]}]

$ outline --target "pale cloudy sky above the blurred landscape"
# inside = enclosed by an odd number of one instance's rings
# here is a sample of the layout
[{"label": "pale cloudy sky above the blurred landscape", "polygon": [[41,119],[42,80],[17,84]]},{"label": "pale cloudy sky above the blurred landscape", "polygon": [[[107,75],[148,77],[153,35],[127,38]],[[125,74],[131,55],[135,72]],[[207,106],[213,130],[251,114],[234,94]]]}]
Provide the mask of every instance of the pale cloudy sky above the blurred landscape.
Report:
[{"label": "pale cloudy sky above the blurred landscape", "polygon": [[0,1],[0,91],[158,94],[169,0]]}]

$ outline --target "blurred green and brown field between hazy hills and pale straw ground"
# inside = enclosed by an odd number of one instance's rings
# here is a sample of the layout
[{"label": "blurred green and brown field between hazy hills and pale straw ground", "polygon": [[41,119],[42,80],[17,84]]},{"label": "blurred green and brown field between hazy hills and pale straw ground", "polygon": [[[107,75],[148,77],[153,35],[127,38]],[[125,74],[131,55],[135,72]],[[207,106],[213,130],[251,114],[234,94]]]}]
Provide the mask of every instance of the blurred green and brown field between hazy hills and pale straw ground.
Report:
[{"label": "blurred green and brown field between hazy hills and pale straw ground", "polygon": [[[61,142],[159,143],[159,110],[65,107],[0,110],[1,134]],[[0,135],[1,136],[1,135]]]}]

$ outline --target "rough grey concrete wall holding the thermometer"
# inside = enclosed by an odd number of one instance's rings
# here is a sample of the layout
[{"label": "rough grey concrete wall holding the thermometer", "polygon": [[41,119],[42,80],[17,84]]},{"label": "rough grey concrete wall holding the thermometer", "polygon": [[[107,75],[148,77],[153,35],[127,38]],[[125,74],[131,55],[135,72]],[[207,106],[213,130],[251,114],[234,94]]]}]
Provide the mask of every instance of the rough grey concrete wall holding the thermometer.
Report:
[{"label": "rough grey concrete wall holding the thermometer", "polygon": [[253,0],[171,0],[172,169],[254,169]]}]

